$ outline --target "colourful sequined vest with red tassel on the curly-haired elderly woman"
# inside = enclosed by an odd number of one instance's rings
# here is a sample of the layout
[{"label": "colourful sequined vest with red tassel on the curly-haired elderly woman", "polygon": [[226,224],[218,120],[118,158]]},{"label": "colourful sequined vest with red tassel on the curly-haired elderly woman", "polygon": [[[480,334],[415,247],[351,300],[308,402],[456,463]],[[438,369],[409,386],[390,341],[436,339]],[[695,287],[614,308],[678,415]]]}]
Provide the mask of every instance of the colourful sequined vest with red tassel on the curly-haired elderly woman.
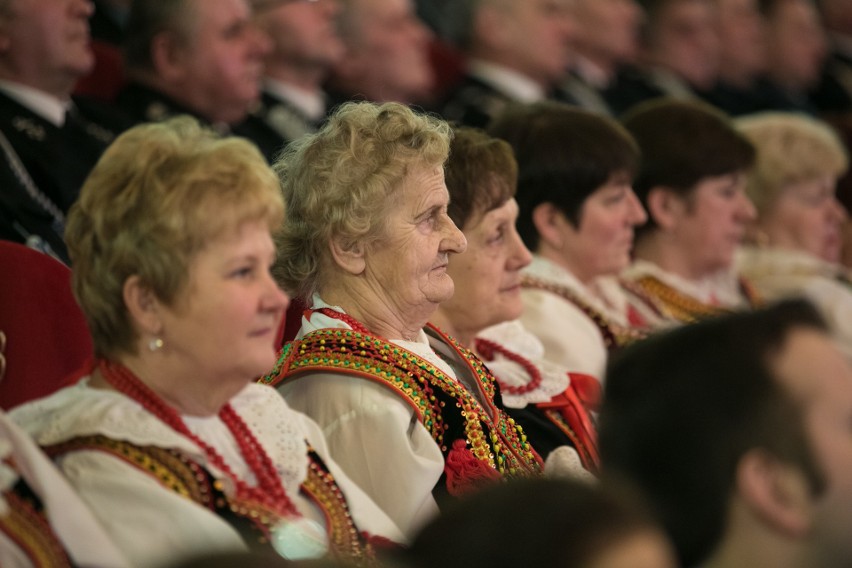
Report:
[{"label": "colourful sequined vest with red tassel on the curly-haired elderly woman", "polygon": [[332,372],[393,390],[412,408],[444,456],[444,474],[433,490],[439,503],[502,477],[540,473],[541,458],[521,427],[495,404],[494,378],[469,350],[437,328],[425,328],[431,339],[451,348],[474,378],[484,407],[428,361],[371,334],[354,320],[349,323],[351,330],[319,329],[286,344],[275,368],[261,382],[278,385]]}]

